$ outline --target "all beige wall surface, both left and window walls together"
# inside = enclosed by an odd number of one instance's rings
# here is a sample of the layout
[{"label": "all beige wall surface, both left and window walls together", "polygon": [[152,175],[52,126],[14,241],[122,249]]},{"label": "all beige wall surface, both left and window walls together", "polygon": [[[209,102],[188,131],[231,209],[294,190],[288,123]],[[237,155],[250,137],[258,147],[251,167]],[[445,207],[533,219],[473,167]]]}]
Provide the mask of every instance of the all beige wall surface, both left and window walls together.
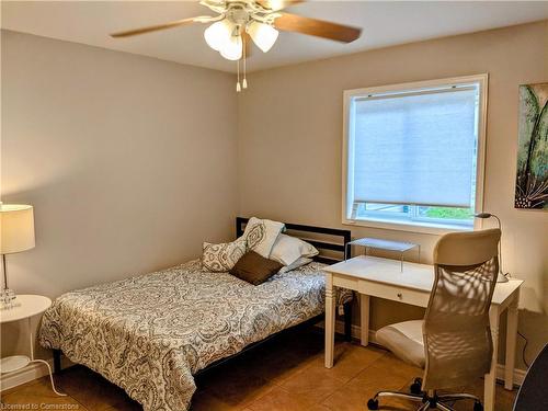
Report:
[{"label": "all beige wall surface, both left and window walls together", "polygon": [[[230,75],[2,32],[2,199],[36,219],[10,284],[56,297],[172,265],[231,238],[237,212],[344,227],[343,90],[489,72],[484,208],[526,281],[530,359],[548,341],[548,214],[513,208],[517,85],[548,81],[547,42],[541,22],[372,50],[252,73],[237,99]],[[352,229],[420,242],[425,261],[437,240]],[[374,300],[372,315],[378,328],[422,310]],[[24,338],[2,327],[2,353]]]}]

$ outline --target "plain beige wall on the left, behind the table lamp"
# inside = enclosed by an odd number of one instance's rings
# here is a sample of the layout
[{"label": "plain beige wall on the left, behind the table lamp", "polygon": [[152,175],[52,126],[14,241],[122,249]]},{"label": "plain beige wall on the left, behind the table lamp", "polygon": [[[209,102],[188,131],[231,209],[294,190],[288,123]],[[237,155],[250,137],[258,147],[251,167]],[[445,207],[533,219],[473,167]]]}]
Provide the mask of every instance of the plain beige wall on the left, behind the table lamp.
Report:
[{"label": "plain beige wall on the left, behind the table lamp", "polygon": [[[35,207],[19,294],[174,265],[233,236],[233,76],[2,32],[1,198]],[[2,326],[2,353],[22,347]]]}]

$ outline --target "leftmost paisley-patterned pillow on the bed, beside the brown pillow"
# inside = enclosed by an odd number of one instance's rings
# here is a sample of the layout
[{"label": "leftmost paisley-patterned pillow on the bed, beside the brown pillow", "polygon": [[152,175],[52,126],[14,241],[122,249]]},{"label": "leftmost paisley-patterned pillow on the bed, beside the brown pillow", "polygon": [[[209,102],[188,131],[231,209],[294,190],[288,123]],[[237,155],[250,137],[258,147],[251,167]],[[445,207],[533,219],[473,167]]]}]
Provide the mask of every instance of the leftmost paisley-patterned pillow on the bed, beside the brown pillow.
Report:
[{"label": "leftmost paisley-patterned pillow on the bed, beside the brown pillow", "polygon": [[204,242],[202,269],[213,273],[227,273],[247,251],[247,241],[241,237],[232,242],[212,244]]}]

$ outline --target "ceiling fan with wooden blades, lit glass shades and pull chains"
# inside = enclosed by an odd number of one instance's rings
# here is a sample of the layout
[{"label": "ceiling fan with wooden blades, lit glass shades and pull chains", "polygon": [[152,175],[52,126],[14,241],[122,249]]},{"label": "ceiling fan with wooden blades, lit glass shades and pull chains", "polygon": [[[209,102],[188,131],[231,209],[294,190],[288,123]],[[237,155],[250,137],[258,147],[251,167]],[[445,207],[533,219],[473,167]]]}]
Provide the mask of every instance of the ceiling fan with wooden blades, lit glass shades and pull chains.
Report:
[{"label": "ceiling fan with wooden blades, lit glass shades and pull chains", "polygon": [[[276,42],[278,30],[342,43],[351,43],[359,37],[361,28],[281,11],[286,7],[301,2],[304,0],[202,0],[199,4],[209,8],[218,15],[175,20],[164,24],[113,33],[111,36],[129,37],[192,23],[213,23],[204,31],[205,41],[224,58],[238,61],[237,91],[240,91],[239,61],[243,59],[243,71],[246,72],[246,57],[249,57],[250,53],[250,38],[263,53],[266,53]],[[243,89],[246,88],[244,73]]]}]

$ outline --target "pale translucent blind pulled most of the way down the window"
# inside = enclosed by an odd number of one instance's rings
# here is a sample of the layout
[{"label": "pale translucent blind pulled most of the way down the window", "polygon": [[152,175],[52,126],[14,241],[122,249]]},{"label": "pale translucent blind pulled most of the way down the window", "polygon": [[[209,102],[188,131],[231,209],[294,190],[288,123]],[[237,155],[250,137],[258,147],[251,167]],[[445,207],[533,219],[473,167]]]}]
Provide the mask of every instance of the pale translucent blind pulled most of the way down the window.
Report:
[{"label": "pale translucent blind pulled most of the way down the window", "polygon": [[354,98],[354,201],[469,207],[478,89]]}]

